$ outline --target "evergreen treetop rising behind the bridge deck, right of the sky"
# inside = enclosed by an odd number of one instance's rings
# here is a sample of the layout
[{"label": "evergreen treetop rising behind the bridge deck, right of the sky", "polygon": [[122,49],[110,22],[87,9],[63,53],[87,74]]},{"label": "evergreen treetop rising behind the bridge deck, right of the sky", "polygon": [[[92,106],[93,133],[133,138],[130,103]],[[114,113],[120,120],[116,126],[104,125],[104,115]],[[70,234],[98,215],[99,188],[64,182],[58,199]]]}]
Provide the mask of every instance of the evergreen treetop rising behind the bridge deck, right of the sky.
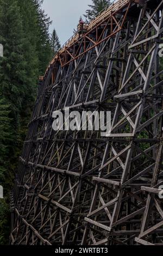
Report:
[{"label": "evergreen treetop rising behind the bridge deck, right of the sky", "polygon": [[88,5],[89,9],[86,10],[84,17],[87,22],[95,18],[104,8],[111,4],[111,0],[92,0],[92,4]]}]

